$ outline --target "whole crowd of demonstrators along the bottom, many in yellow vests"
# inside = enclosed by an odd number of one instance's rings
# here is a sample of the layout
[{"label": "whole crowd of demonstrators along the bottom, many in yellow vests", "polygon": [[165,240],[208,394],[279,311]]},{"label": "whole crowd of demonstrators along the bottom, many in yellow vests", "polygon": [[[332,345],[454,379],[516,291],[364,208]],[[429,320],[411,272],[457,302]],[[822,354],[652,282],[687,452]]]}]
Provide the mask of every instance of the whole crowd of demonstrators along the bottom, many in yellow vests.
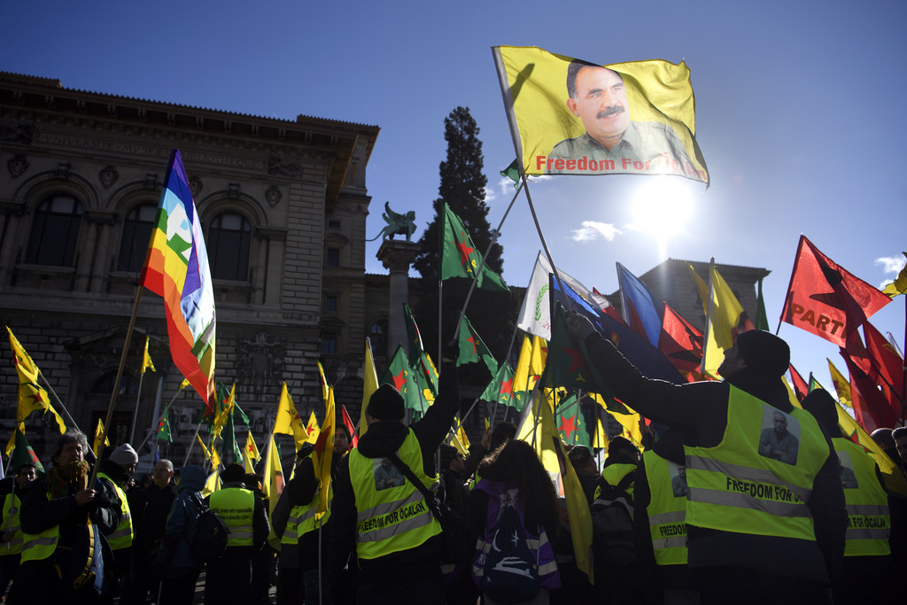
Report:
[{"label": "whole crowd of demonstrators along the bottom, many in yellow vests", "polygon": [[[652,423],[642,452],[613,437],[601,468],[590,448],[567,448],[592,521],[588,570],[558,482],[517,426],[497,424],[465,456],[445,443],[460,405],[450,344],[420,420],[405,424],[402,395],[380,386],[356,447],[336,425],[327,487],[305,444],[276,503],[240,464],[207,498],[196,465],[174,472],[161,460],[135,484],[129,444],[102,454],[89,485],[85,435],[62,434],[46,476],[23,464],[0,482],[0,589],[10,585],[9,603],[179,605],[197,600],[204,571],[212,604],[271,602],[275,585],[278,605],[893,597],[907,501],[841,433],[831,395],[791,404],[783,340],[745,332],[722,381],[671,385],[642,376],[584,317],[568,325],[613,393]],[[873,439],[903,468],[907,428]],[[215,558],[196,540],[207,510],[229,529]]]}]

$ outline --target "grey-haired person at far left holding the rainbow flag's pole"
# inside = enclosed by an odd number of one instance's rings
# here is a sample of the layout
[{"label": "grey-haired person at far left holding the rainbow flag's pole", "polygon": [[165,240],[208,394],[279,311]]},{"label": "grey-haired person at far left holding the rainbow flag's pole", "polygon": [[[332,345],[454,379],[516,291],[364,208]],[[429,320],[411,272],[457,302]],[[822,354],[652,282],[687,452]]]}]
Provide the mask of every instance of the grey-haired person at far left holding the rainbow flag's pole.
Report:
[{"label": "grey-haired person at far left holding the rainbow flag's pole", "polygon": [[91,521],[94,529],[108,535],[120,524],[116,493],[100,480],[93,489],[87,487],[91,468],[83,459],[86,452],[83,433],[69,429],[60,435],[51,457],[54,466],[24,494],[22,564],[8,602],[44,605],[72,598],[73,579],[61,580],[57,567],[72,565],[79,530]]}]

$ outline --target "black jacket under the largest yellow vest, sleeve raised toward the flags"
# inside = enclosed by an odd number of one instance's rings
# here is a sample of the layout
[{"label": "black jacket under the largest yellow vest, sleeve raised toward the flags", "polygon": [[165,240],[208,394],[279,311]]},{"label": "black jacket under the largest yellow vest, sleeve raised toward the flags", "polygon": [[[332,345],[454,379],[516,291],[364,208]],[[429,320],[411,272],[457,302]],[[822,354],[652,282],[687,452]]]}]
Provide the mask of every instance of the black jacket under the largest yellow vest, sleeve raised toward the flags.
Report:
[{"label": "black jacket under the largest yellow vest, sleeve raised toward the flags", "polygon": [[[780,379],[749,368],[740,370],[725,382],[673,385],[642,376],[610,340],[598,333],[586,337],[585,344],[592,363],[615,396],[639,414],[682,431],[686,444],[691,446],[714,447],[721,442],[727,428],[730,385],[783,412],[793,410]],[[820,582],[837,577],[844,557],[847,512],[838,459],[831,455],[834,449],[828,435],[824,436],[829,456],[816,475],[812,495],[806,502],[813,515],[816,542],[688,526],[689,566],[708,568],[736,564],[748,571]],[[663,455],[685,464],[682,444],[676,452]],[[821,556],[814,551],[816,546]]]}]

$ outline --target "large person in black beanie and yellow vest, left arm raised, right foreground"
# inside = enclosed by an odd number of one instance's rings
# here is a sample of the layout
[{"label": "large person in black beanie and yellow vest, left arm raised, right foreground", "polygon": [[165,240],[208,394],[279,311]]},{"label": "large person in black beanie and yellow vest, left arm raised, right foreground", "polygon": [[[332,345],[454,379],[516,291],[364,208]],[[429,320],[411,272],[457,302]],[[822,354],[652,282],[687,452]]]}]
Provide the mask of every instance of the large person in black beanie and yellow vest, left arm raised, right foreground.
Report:
[{"label": "large person in black beanie and yellow vest, left arm raised, right foreground", "polygon": [[[702,574],[702,602],[831,602],[844,555],[844,490],[829,438],[787,398],[785,341],[743,332],[718,368],[722,381],[672,385],[642,376],[588,318],[569,312],[568,327],[615,396],[685,435],[688,564]],[[786,427],[775,426],[775,412]],[[775,446],[790,443],[785,431],[795,434],[795,464],[777,447],[760,452],[766,428],[776,431]]]}]

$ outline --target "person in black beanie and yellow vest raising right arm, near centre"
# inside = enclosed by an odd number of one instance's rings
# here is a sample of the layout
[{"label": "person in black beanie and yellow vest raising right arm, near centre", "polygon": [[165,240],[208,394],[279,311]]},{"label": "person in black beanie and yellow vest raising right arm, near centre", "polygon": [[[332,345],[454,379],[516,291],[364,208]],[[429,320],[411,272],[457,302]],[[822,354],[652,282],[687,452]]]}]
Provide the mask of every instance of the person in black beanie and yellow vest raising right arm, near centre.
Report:
[{"label": "person in black beanie and yellow vest raising right arm, near centre", "polygon": [[[328,522],[327,569],[336,603],[346,601],[347,589],[355,589],[359,604],[444,602],[441,525],[387,456],[396,453],[426,487],[437,482],[434,453],[460,407],[458,348],[444,346],[438,395],[419,422],[403,424],[404,400],[393,385],[381,385],[369,399],[368,431],[340,465]],[[354,551],[358,580],[348,587],[344,568]]]}]

